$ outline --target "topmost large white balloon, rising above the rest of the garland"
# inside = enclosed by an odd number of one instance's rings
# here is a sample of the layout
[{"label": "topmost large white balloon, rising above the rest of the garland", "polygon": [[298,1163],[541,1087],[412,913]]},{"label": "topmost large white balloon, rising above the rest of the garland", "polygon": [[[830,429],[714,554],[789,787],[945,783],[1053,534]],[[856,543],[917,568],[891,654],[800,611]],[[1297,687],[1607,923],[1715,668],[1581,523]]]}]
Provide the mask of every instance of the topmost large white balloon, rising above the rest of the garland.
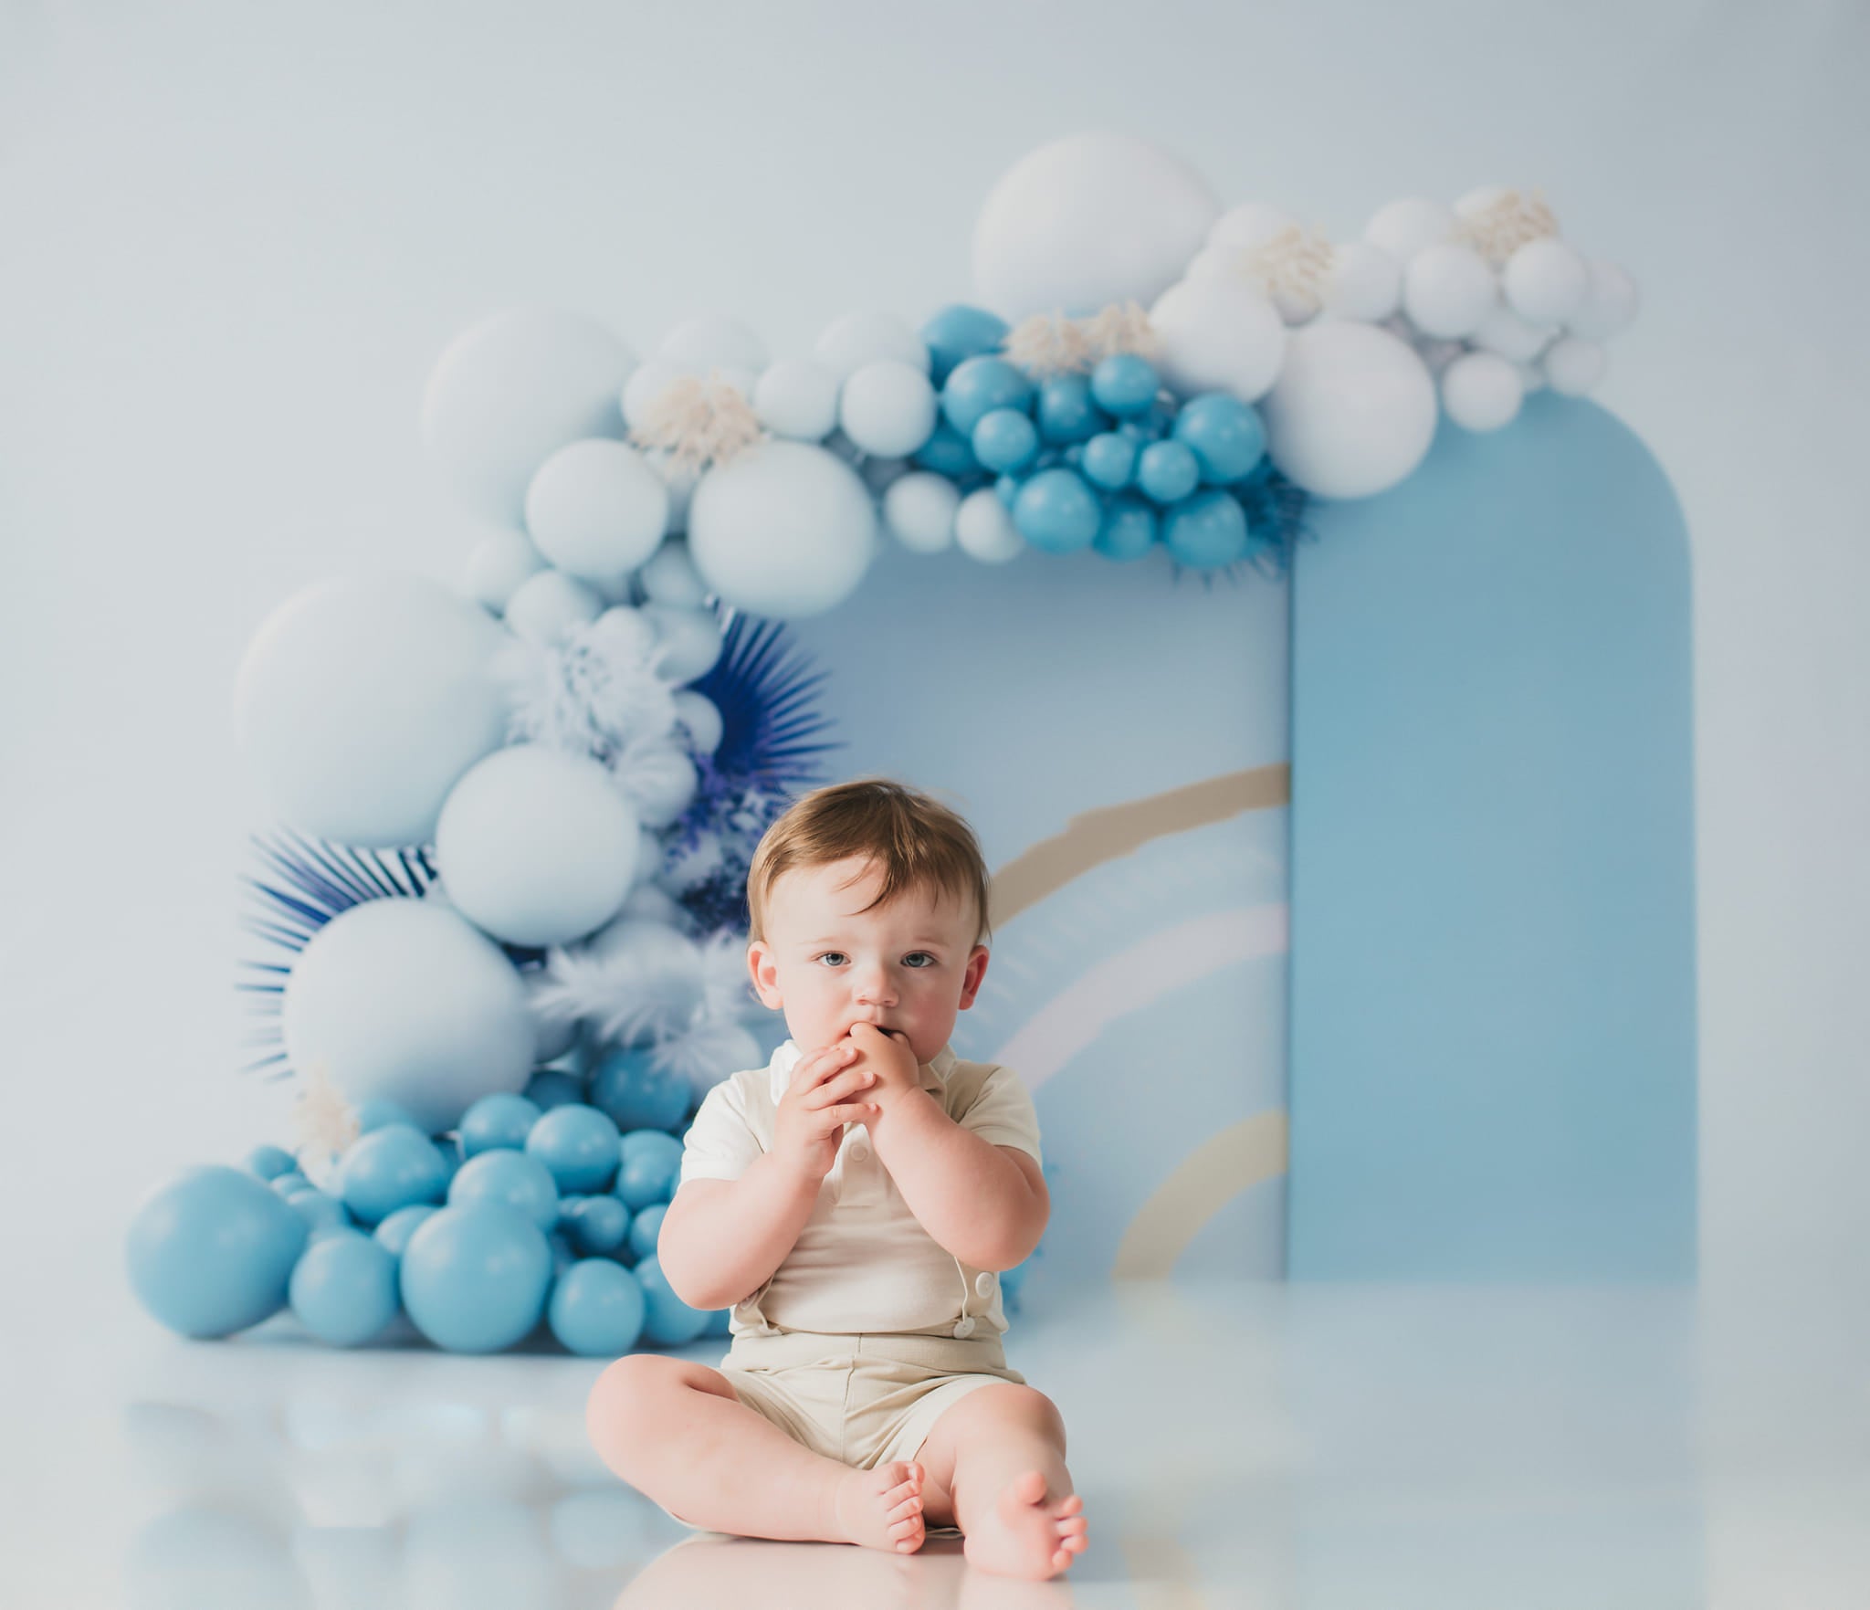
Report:
[{"label": "topmost large white balloon, rising above the rest of the garland", "polygon": [[974,223],[974,299],[1006,320],[1148,307],[1206,241],[1221,206],[1180,157],[1086,133],[1028,151]]}]

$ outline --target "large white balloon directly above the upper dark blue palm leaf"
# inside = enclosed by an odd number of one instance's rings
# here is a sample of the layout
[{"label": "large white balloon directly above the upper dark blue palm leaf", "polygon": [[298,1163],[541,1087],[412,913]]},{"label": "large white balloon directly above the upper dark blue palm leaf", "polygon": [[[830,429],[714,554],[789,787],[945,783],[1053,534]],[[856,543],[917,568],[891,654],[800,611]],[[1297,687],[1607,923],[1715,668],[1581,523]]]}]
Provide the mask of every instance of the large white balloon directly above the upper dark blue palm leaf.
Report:
[{"label": "large white balloon directly above the upper dark blue palm leaf", "polygon": [[688,552],[737,610],[798,619],[836,608],[877,552],[877,505],[823,447],[761,441],[711,469],[688,510]]}]

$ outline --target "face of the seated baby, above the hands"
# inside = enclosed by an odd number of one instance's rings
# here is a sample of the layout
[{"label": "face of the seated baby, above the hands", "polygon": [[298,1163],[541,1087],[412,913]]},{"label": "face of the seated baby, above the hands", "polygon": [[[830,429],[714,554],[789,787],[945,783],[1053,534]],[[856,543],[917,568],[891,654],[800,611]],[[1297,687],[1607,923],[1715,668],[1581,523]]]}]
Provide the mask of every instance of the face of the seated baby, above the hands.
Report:
[{"label": "face of the seated baby, above the hands", "polygon": [[974,1004],[987,948],[974,944],[974,911],[952,896],[911,888],[862,911],[883,873],[860,856],[784,873],[767,896],[767,937],[746,948],[754,989],[785,1010],[800,1051],[843,1040],[853,1023],[909,1038],[929,1062]]}]

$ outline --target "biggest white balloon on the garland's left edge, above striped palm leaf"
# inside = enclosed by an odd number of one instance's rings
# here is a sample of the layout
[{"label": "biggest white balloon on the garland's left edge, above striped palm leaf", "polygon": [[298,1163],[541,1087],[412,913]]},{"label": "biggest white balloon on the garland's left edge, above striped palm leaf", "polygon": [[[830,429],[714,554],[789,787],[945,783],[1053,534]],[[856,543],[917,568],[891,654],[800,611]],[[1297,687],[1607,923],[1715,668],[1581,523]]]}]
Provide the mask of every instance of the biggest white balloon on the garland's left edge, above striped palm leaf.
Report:
[{"label": "biggest white balloon on the garland's left edge, above striped palm leaf", "polygon": [[507,634],[423,576],[344,576],[262,621],[234,731],[280,821],[337,843],[426,843],[441,800],[507,737]]}]

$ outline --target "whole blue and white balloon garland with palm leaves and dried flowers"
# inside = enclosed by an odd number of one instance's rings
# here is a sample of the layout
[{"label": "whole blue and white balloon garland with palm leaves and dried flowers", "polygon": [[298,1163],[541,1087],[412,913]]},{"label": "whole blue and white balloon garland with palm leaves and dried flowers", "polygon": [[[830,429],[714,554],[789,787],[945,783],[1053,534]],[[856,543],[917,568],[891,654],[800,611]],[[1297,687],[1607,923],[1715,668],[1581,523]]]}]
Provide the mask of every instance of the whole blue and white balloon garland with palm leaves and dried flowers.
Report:
[{"label": "whole blue and white balloon garland with palm leaves and dried flowers", "polygon": [[1537,193],[1404,198],[1333,243],[1115,135],[995,185],[974,280],[776,361],[729,316],[638,359],[539,309],[443,352],[423,436],[496,527],[460,589],[320,583],[237,673],[282,823],[243,989],[299,1146],[146,1200],[127,1258],[157,1320],[290,1305],[348,1346],[402,1313],[462,1352],[722,1331],[654,1245],[684,1122],[765,1060],[748,862],[836,748],[782,623],[845,602],[886,539],[1279,570],[1309,499],[1395,486],[1442,413],[1487,432],[1530,389],[1590,391],[1636,312]]}]

